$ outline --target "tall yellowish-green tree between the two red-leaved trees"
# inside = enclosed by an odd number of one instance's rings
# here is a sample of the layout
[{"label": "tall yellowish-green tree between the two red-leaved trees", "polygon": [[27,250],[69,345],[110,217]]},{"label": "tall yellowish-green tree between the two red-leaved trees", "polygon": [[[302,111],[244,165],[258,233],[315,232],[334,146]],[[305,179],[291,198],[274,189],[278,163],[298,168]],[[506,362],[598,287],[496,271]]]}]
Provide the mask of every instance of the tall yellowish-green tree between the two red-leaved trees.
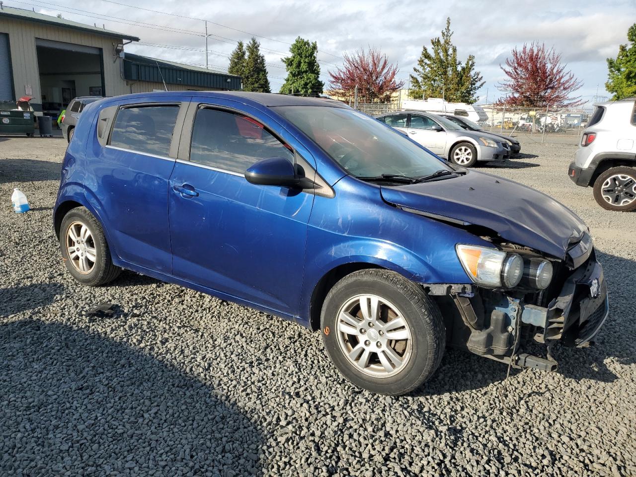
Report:
[{"label": "tall yellowish-green tree between the two red-leaved trees", "polygon": [[484,85],[479,71],[474,71],[475,59],[469,55],[466,63],[457,60],[457,46],[451,39],[450,18],[446,18],[446,28],[441,39],[431,39],[431,51],[422,46],[422,55],[411,74],[412,98],[441,98],[450,102],[473,103],[476,93]]}]

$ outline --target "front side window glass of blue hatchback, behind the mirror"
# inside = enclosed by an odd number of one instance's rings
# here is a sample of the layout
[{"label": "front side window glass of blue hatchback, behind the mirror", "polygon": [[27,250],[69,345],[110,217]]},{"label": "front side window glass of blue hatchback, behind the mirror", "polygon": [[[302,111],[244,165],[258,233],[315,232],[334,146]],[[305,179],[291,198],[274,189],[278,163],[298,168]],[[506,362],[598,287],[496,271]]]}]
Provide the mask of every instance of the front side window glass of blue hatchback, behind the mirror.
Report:
[{"label": "front side window glass of blue hatchback, behind the mirror", "polygon": [[276,156],[294,162],[292,151],[258,121],[216,109],[197,111],[191,161],[242,174],[254,162]]}]

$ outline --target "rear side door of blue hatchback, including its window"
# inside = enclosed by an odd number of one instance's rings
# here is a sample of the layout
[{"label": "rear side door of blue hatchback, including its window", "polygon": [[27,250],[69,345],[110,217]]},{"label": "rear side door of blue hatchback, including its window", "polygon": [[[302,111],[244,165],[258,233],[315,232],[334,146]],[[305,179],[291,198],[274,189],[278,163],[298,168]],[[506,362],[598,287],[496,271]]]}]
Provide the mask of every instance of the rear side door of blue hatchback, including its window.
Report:
[{"label": "rear side door of blue hatchback, including its window", "polygon": [[99,208],[118,256],[167,274],[172,267],[168,180],[178,146],[174,132],[186,110],[181,100],[114,107],[114,118],[100,114],[99,123],[113,126],[95,160],[86,162],[86,176],[95,181],[88,184],[89,200]]}]

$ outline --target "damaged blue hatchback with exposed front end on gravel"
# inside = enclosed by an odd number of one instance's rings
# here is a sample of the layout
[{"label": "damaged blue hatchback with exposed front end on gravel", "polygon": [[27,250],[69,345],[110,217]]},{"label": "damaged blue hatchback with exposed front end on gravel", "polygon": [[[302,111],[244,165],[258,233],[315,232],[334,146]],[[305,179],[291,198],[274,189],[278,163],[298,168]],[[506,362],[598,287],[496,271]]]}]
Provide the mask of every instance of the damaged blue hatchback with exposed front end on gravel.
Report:
[{"label": "damaged blue hatchback with exposed front end on gravel", "polygon": [[431,377],[446,346],[553,370],[552,345],[588,344],[608,313],[569,209],[334,100],[99,100],[67,149],[53,221],[78,282],[127,268],[320,329],[342,374],[385,394]]}]

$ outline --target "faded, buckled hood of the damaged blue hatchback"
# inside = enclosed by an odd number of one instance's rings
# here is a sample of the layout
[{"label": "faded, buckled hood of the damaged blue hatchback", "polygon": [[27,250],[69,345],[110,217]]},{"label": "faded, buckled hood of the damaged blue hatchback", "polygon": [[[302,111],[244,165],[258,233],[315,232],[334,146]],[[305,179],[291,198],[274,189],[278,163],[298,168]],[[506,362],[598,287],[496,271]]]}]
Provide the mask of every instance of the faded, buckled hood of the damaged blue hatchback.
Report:
[{"label": "faded, buckled hood of the damaged blue hatchback", "polygon": [[383,186],[381,191],[390,204],[462,226],[487,227],[505,240],[562,259],[588,230],[574,212],[548,195],[473,170],[440,181]]}]

